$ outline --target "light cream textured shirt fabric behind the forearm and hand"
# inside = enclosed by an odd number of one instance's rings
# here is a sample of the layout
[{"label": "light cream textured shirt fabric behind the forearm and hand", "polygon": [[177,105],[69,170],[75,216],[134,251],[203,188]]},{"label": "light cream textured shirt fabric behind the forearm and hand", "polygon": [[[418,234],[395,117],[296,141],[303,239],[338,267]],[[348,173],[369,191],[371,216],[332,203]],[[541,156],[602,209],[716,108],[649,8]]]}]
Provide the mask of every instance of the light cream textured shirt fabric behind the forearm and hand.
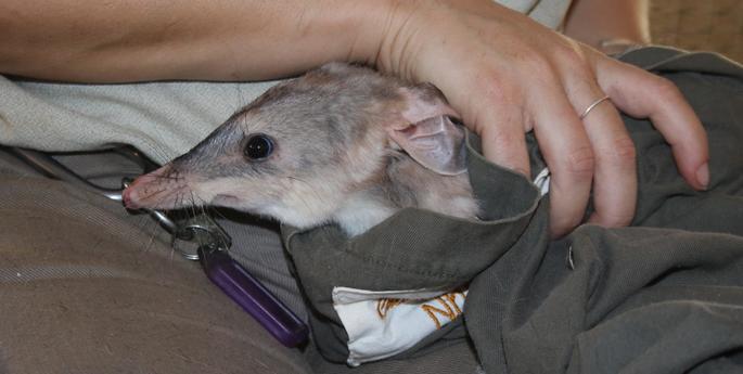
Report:
[{"label": "light cream textured shirt fabric behind the forearm and hand", "polygon": [[[555,28],[569,0],[502,0]],[[0,76],[0,144],[42,151],[137,146],[165,163],[187,152],[271,82],[63,85]]]}]

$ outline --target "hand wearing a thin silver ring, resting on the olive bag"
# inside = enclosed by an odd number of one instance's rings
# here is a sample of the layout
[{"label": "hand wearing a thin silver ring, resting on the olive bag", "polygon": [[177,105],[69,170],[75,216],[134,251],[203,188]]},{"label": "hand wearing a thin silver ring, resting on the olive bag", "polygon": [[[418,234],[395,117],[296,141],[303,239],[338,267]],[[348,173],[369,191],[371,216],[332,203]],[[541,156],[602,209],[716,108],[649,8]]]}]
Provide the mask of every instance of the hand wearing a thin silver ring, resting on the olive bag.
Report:
[{"label": "hand wearing a thin silver ring, resting on the olive bag", "polygon": [[[399,2],[390,20],[376,66],[436,85],[481,136],[486,158],[528,176],[524,133],[534,130],[552,172],[553,236],[580,223],[591,188],[595,211],[589,222],[631,222],[636,150],[617,108],[650,118],[687,182],[706,188],[706,132],[670,81],[490,0]],[[579,118],[606,95],[611,102]]]}]

